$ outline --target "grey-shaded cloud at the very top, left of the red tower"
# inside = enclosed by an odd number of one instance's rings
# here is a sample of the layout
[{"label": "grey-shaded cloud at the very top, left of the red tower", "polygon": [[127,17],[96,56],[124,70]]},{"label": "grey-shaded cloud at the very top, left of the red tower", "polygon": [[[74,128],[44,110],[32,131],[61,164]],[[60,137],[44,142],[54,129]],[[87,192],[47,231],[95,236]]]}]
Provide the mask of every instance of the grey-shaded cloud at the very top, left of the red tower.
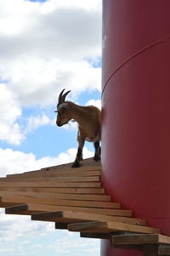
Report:
[{"label": "grey-shaded cloud at the very top, left of the red tower", "polygon": [[101,1],[93,2],[1,0],[1,46],[9,50],[4,56],[35,54],[82,60],[99,55]]}]

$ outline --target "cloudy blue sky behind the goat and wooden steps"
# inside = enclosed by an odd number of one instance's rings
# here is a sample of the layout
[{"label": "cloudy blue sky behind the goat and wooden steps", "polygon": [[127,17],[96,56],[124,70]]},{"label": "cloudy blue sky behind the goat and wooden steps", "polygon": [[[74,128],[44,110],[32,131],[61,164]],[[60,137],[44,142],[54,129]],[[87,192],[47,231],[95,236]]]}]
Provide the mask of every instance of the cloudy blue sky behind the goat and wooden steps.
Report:
[{"label": "cloudy blue sky behind the goat and wooden steps", "polygon": [[[54,111],[63,88],[100,107],[101,0],[0,0],[0,59],[0,176],[73,161],[77,125],[58,128]],[[0,209],[0,256],[87,253],[99,240]]]}]

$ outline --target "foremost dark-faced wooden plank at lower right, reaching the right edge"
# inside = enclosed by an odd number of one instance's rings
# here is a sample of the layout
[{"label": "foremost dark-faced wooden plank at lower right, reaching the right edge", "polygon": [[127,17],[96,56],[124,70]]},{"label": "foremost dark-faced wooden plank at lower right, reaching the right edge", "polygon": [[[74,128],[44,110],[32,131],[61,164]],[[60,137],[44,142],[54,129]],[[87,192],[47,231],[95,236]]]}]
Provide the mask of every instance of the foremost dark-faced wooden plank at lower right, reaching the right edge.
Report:
[{"label": "foremost dark-faced wooden plank at lower right, reaching the right edge", "polygon": [[170,244],[170,237],[160,234],[131,234],[112,236],[111,244],[148,244],[148,243],[163,243]]}]

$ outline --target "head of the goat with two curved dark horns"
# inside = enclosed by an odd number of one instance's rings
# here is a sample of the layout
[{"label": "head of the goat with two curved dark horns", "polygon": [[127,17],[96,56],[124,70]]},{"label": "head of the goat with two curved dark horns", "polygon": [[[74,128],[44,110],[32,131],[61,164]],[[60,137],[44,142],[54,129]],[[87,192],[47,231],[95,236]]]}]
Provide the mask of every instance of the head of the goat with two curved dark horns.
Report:
[{"label": "head of the goat with two curved dark horns", "polygon": [[56,120],[57,126],[62,126],[71,120],[71,115],[70,115],[70,111],[69,111],[69,103],[65,102],[66,95],[69,94],[71,91],[68,91],[65,94],[63,94],[64,91],[65,91],[65,89],[63,89],[61,91],[61,93],[59,94],[57,111],[54,111],[54,112],[58,113],[57,120]]}]

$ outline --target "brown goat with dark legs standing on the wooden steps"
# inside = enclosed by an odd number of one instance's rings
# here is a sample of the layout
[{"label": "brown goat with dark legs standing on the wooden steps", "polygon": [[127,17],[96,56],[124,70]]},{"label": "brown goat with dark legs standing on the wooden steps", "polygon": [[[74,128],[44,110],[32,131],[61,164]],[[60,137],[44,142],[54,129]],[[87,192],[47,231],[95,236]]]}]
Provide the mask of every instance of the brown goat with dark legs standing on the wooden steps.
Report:
[{"label": "brown goat with dark legs standing on the wooden steps", "polygon": [[101,111],[94,105],[80,106],[71,101],[65,101],[65,97],[71,91],[63,94],[65,89],[59,94],[57,104],[57,119],[56,125],[63,126],[65,123],[74,119],[78,123],[78,149],[75,162],[71,168],[78,168],[82,160],[82,148],[85,140],[94,142],[94,161],[100,160],[101,148],[99,142],[101,140]]}]

